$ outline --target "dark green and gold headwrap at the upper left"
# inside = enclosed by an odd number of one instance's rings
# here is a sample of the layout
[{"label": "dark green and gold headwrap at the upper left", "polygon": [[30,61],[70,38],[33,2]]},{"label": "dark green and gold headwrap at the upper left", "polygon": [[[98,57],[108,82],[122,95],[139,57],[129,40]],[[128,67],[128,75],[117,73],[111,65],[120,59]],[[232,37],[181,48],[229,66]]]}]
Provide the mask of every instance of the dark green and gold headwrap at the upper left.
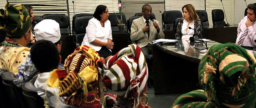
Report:
[{"label": "dark green and gold headwrap at the upper left", "polygon": [[5,10],[0,10],[0,29],[5,29],[9,37],[19,37],[27,34],[32,20],[29,12],[23,5],[10,3],[5,5]]}]

